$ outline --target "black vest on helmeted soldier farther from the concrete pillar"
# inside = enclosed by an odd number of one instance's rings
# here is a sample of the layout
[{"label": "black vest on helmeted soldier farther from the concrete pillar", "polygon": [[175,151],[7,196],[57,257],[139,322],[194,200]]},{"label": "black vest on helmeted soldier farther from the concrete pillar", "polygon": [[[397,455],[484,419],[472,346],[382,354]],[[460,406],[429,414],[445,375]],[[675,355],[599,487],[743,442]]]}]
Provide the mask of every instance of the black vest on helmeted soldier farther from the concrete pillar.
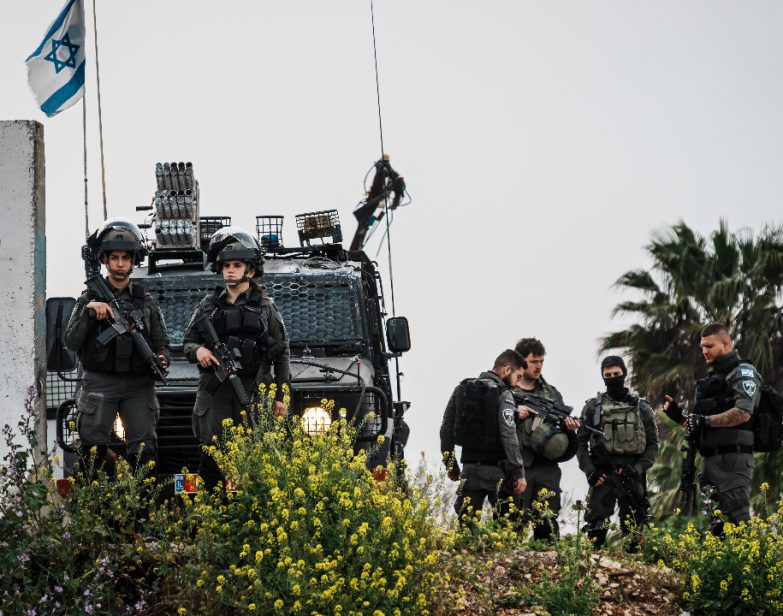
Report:
[{"label": "black vest on helmeted soldier farther from the concrete pillar", "polygon": [[261,305],[264,297],[260,291],[252,288],[245,303],[236,305],[220,301],[223,288],[215,289],[214,310],[210,315],[218,338],[231,352],[238,353],[240,376],[255,376],[266,359],[270,337],[261,319]]}]

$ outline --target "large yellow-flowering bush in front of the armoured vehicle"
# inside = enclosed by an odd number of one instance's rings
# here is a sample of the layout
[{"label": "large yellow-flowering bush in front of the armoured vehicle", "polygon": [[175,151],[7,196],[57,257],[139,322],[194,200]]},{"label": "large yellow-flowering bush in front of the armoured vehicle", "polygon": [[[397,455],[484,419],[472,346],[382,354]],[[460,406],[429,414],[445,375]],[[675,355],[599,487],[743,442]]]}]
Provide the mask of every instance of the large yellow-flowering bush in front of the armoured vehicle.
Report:
[{"label": "large yellow-flowering bush in front of the armoured vehicle", "polygon": [[426,507],[373,479],[344,418],[308,436],[297,418],[273,417],[273,400],[272,391],[242,425],[226,422],[223,442],[209,448],[237,492],[184,501],[179,539],[194,541],[178,573],[179,604],[205,613],[427,613],[439,551]]}]

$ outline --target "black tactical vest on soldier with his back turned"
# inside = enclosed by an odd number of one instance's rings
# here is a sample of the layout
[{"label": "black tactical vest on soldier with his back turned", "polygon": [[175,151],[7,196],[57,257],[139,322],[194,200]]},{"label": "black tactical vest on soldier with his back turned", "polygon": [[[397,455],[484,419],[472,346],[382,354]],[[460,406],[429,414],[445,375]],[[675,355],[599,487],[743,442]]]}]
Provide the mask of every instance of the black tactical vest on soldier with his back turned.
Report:
[{"label": "black tactical vest on soldier with his back turned", "polygon": [[502,460],[498,403],[505,391],[486,379],[465,379],[457,387],[454,442],[462,446],[462,460]]}]

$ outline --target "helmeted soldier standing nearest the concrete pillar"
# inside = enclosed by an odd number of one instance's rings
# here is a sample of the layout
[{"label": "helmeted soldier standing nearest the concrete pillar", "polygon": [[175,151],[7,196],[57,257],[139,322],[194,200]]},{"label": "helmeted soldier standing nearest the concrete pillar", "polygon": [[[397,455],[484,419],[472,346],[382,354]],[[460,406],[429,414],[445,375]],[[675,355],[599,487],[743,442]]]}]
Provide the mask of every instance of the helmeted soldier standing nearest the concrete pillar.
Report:
[{"label": "helmeted soldier standing nearest the concrete pillar", "polygon": [[[120,306],[127,313],[138,311],[143,316],[141,334],[167,367],[169,337],[160,307],[144,287],[130,279],[134,265],[147,253],[138,226],[124,218],[111,218],[89,237],[87,245],[106,267],[106,280]],[[128,457],[135,465],[156,457],[160,407],[150,364],[142,358],[130,333],[105,345],[99,343],[98,336],[111,327],[114,317],[109,304],[96,301],[90,290],[85,290],[68,321],[65,344],[78,353],[83,368],[76,401],[82,446],[96,446],[98,460],[104,459],[119,413]]]}]

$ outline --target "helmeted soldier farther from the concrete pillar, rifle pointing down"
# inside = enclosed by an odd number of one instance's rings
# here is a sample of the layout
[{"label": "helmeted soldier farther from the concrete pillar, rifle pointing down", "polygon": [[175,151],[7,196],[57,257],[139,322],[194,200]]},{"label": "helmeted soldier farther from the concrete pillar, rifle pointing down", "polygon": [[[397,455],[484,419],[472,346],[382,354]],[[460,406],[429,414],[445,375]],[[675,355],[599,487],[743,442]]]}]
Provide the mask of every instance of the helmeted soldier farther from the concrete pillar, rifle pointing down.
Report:
[{"label": "helmeted soldier farther from the concrete pillar, rifle pointing down", "polygon": [[[290,375],[283,317],[266,291],[253,280],[264,273],[264,258],[256,238],[237,227],[224,227],[210,239],[207,260],[212,263],[212,271],[222,275],[225,286],[218,286],[201,301],[183,338],[185,356],[198,363],[201,372],[193,432],[204,445],[211,443],[213,437],[222,437],[224,419],[239,423],[244,407],[229,381],[219,383],[210,369],[219,361],[206,346],[199,328],[203,316],[209,318],[221,342],[239,358],[239,377],[249,395],[253,395],[259,383],[272,382],[270,370],[274,366],[275,415],[286,411],[283,384],[288,383]],[[205,452],[201,454],[199,475],[208,490],[223,480],[214,459]]]}]

